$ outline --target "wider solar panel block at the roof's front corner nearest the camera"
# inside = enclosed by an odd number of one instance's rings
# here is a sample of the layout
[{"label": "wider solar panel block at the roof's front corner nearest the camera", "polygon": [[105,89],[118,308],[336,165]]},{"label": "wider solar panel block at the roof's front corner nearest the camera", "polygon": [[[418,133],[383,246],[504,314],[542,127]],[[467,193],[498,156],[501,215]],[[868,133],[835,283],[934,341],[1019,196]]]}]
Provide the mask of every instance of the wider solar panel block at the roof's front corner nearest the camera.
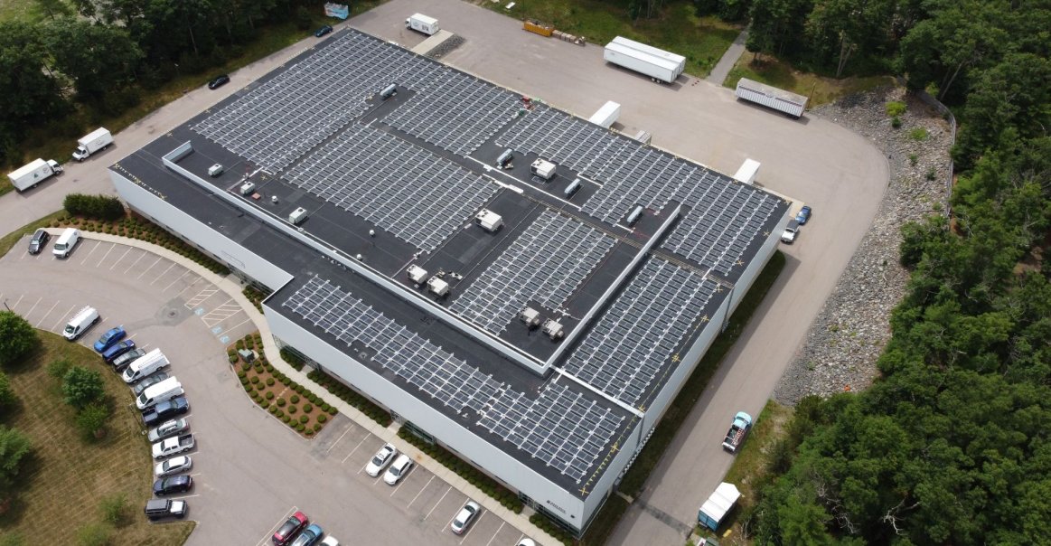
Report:
[{"label": "wider solar panel block at the roof's front corner nearest the camera", "polygon": [[579,484],[623,420],[580,392],[550,383],[535,400],[508,389],[486,408],[478,425]]}]

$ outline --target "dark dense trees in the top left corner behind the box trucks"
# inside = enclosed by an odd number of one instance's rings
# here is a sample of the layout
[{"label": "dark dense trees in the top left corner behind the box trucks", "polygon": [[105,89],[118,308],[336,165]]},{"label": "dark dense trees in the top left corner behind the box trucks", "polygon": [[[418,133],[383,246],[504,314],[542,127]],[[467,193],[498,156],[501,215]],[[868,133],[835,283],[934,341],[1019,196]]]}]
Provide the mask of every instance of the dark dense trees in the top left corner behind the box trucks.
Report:
[{"label": "dark dense trees in the top left corner behind the box trucks", "polygon": [[[0,22],[0,165],[30,127],[80,136],[69,115],[118,115],[179,75],[241,54],[268,24],[309,27],[309,0],[33,0],[41,22]],[[308,11],[309,7],[309,11]],[[74,126],[63,123],[69,120]]]}]

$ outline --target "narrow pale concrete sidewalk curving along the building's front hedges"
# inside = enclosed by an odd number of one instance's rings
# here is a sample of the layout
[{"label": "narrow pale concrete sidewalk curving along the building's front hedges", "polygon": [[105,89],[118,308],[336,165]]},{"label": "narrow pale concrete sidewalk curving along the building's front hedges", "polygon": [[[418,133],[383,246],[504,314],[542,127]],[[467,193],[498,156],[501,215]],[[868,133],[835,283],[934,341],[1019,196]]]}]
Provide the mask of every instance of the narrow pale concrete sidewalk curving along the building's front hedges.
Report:
[{"label": "narrow pale concrete sidewalk curving along the building's front hedges", "polygon": [[[64,228],[53,227],[48,228],[47,231],[50,232],[53,236],[57,237],[62,232],[63,229]],[[83,238],[141,248],[156,256],[159,256],[165,260],[174,262],[183,267],[186,267],[187,269],[193,271],[197,275],[200,275],[205,280],[214,284],[221,290],[226,292],[226,295],[232,298],[236,302],[236,304],[240,305],[242,309],[244,309],[245,314],[248,315],[248,318],[252,321],[253,324],[255,324],[256,328],[259,328],[260,330],[260,335],[263,338],[263,349],[264,353],[266,355],[267,362],[272,364],[274,369],[281,370],[282,373],[288,376],[292,381],[295,381],[296,383],[310,389],[311,392],[317,395],[318,398],[324,400],[330,406],[338,409],[341,413],[350,418],[355,424],[367,429],[369,432],[376,436],[384,442],[391,443],[392,445],[397,447],[399,451],[409,454],[410,457],[412,457],[413,461],[416,462],[416,464],[423,466],[424,468],[427,468],[434,476],[438,477],[438,479],[444,480],[446,483],[453,486],[463,494],[470,497],[473,501],[480,504],[486,510],[493,512],[495,515],[508,522],[508,524],[514,526],[519,531],[524,533],[527,537],[530,537],[534,541],[537,541],[538,544],[559,544],[559,541],[557,539],[543,532],[542,530],[540,530],[539,527],[533,525],[529,521],[529,514],[532,513],[532,510],[529,509],[528,507],[526,508],[526,510],[522,511],[522,513],[515,513],[504,508],[503,505],[501,505],[495,499],[485,493],[481,489],[471,485],[467,480],[460,478],[460,476],[457,474],[456,472],[453,472],[441,463],[435,461],[434,459],[431,459],[429,456],[427,456],[418,448],[416,448],[416,446],[409,444],[408,442],[398,438],[397,436],[398,427],[396,426],[396,424],[390,427],[379,426],[378,423],[376,423],[372,419],[369,419],[365,413],[358,411],[357,408],[351,406],[350,404],[344,402],[335,395],[329,392],[327,389],[325,389],[325,387],[307,379],[306,373],[296,370],[295,368],[290,366],[287,362],[282,360],[280,352],[281,349],[277,347],[277,344],[274,343],[273,341],[273,335],[270,332],[270,328],[267,325],[266,318],[255,308],[254,305],[252,305],[250,301],[248,301],[247,298],[245,298],[245,295],[242,292],[244,285],[241,284],[240,280],[238,280],[236,278],[232,276],[220,277],[219,275],[209,271],[207,268],[198,264],[197,262],[189,260],[188,258],[180,256],[179,254],[168,250],[167,248],[151,243],[147,243],[145,241],[140,241],[138,239],[129,239],[126,237],[120,237],[108,234],[98,234],[94,231],[84,231]]]}]

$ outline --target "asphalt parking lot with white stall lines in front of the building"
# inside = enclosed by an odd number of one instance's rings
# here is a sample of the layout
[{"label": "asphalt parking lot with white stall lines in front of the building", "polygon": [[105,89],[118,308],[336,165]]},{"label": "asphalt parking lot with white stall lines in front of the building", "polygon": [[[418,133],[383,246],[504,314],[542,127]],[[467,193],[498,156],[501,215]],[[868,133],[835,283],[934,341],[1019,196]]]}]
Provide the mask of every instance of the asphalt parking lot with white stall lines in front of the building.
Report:
[{"label": "asphalt parking lot with white stall lines in front of the building", "polygon": [[84,305],[102,321],[90,345],[122,324],[171,361],[190,403],[198,446],[185,496],[198,527],[187,544],[266,544],[303,510],[344,544],[515,544],[522,533],[482,511],[463,535],[449,530],[467,497],[416,465],[396,486],[365,473],[384,441],[345,416],[305,440],[255,406],[226,361],[226,344],[254,330],[218,286],[167,259],[85,239],[66,260],[26,252],[28,237],[0,257],[0,302],[34,326],[60,332]]}]

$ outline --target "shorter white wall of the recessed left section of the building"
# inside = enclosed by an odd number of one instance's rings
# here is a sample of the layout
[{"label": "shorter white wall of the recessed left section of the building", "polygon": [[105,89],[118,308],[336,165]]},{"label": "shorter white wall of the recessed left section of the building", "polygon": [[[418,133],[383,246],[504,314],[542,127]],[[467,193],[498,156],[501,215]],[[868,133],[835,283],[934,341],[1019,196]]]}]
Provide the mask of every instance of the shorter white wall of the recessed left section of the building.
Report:
[{"label": "shorter white wall of the recessed left section of the building", "polygon": [[131,208],[164,224],[169,230],[192,241],[193,244],[211,252],[212,256],[232,267],[241,269],[268,288],[276,290],[292,279],[292,276],[284,269],[227,239],[226,236],[207,224],[183,213],[120,174],[110,170],[109,178],[112,180],[114,186],[117,187],[121,199],[126,201]]}]

